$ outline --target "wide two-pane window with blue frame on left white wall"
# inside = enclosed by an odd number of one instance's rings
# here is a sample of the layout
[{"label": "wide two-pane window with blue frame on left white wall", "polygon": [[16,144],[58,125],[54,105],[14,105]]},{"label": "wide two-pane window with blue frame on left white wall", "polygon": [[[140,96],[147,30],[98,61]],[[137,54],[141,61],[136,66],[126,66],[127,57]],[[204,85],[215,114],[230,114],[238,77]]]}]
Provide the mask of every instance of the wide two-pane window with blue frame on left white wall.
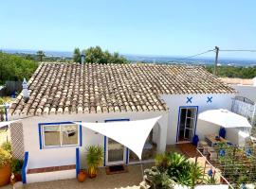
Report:
[{"label": "wide two-pane window with blue frame on left white wall", "polygon": [[72,122],[40,123],[40,148],[82,146],[82,126]]}]

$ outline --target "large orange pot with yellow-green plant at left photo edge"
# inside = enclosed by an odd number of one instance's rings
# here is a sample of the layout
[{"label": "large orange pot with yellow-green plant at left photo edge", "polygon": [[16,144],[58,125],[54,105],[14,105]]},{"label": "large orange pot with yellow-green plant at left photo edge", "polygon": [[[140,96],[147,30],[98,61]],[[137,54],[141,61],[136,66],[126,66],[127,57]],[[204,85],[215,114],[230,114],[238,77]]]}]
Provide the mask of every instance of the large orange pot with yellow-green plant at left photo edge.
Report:
[{"label": "large orange pot with yellow-green plant at left photo edge", "polygon": [[0,148],[0,186],[9,183],[10,178],[10,154],[7,150]]}]

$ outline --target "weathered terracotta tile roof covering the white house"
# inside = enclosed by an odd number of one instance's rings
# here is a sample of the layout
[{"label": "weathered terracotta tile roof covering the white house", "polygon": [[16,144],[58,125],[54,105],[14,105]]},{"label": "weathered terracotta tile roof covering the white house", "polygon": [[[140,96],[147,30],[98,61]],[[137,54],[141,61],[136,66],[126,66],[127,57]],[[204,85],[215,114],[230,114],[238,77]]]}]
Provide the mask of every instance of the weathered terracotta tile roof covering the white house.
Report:
[{"label": "weathered terracotta tile roof covering the white house", "polygon": [[202,67],[154,64],[42,63],[11,114],[166,111],[159,94],[227,94],[234,90]]}]

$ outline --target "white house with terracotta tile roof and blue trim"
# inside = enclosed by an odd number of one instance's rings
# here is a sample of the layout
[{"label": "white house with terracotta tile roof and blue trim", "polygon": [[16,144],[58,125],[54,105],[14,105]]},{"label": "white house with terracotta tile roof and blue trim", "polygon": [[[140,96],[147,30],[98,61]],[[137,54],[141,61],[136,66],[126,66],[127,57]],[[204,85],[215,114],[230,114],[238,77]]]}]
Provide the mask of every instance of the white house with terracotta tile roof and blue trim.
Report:
[{"label": "white house with terracotta tile roof and blue trim", "polygon": [[28,96],[20,94],[9,110],[9,119],[23,118],[10,131],[13,155],[25,159],[24,182],[75,178],[91,145],[104,147],[105,166],[137,162],[125,146],[72,121],[161,115],[145,145],[146,161],[154,149],[217,133],[197,114],[230,110],[235,94],[204,68],[180,65],[42,63],[27,84]]}]

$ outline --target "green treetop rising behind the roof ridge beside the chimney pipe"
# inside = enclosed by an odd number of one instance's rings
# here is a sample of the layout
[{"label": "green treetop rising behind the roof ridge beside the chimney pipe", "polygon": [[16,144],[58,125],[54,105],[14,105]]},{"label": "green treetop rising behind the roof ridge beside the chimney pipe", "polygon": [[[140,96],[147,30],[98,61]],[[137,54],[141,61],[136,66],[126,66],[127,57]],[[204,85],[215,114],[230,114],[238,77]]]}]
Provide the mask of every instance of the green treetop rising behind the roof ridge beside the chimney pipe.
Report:
[{"label": "green treetop rising behind the roof ridge beside the chimney pipe", "polygon": [[[119,56],[119,53],[115,52],[113,54],[108,51],[102,51],[100,46],[90,47],[88,49],[82,50],[82,53],[85,55],[86,63],[100,63],[100,64],[122,64],[128,63],[124,57]],[[79,48],[75,48],[73,60],[75,62],[81,62],[81,52]]]}]

